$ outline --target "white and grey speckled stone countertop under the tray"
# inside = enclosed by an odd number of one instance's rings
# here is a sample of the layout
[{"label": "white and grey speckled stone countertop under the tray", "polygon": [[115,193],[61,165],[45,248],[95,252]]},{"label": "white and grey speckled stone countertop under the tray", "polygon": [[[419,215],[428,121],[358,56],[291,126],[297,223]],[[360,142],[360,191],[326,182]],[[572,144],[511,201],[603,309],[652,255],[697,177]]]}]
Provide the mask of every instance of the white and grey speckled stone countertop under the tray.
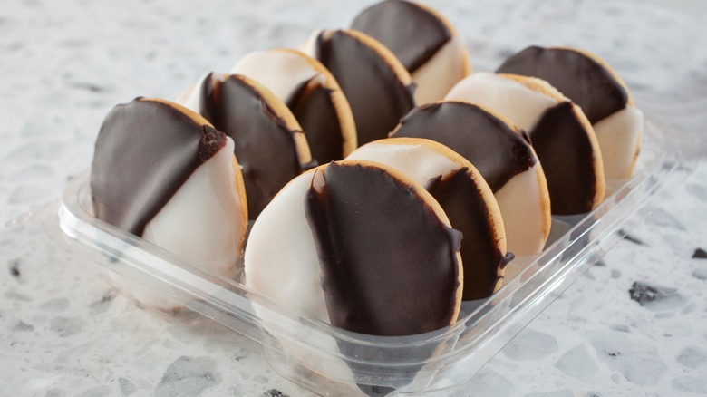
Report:
[{"label": "white and grey speckled stone countertop under the tray", "polygon": [[[685,0],[674,11],[638,2],[550,3],[432,5],[468,39],[475,68],[492,68],[528,44],[580,45],[615,65],[639,105],[642,98],[666,103],[663,116],[677,128],[704,131],[706,4]],[[174,98],[202,73],[228,71],[248,51],[295,46],[316,27],[347,24],[363,5],[5,3],[0,219],[61,195],[65,181],[90,165],[114,104]],[[691,113],[697,116],[688,119]],[[701,160],[458,395],[707,393],[705,209]],[[218,324],[144,310],[112,289],[102,268],[45,239],[38,223],[0,230],[1,396],[311,395],[274,373],[257,343]]]}]

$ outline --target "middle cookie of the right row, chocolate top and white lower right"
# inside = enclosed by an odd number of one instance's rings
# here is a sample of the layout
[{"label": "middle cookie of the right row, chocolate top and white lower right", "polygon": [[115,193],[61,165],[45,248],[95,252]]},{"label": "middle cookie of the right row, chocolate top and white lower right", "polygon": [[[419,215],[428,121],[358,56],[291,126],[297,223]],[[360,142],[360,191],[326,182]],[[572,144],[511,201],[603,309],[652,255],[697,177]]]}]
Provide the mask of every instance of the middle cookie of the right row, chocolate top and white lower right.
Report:
[{"label": "middle cookie of the right row, chocolate top and white lower right", "polygon": [[551,224],[547,181],[525,131],[512,121],[476,104],[444,101],[413,109],[391,136],[435,140],[469,160],[499,203],[508,251],[517,258],[542,252]]}]

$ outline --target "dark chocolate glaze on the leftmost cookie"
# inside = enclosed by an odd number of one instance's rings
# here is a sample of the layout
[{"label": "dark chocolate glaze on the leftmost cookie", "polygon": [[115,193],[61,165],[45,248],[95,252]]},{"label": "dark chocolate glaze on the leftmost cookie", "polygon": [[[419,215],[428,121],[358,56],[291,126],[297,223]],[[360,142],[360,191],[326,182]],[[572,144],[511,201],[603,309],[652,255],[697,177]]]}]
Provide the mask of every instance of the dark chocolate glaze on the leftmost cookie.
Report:
[{"label": "dark chocolate glaze on the leftmost cookie", "polygon": [[226,135],[169,104],[136,99],[108,113],[91,165],[93,211],[141,236],[195,169],[224,147]]}]

